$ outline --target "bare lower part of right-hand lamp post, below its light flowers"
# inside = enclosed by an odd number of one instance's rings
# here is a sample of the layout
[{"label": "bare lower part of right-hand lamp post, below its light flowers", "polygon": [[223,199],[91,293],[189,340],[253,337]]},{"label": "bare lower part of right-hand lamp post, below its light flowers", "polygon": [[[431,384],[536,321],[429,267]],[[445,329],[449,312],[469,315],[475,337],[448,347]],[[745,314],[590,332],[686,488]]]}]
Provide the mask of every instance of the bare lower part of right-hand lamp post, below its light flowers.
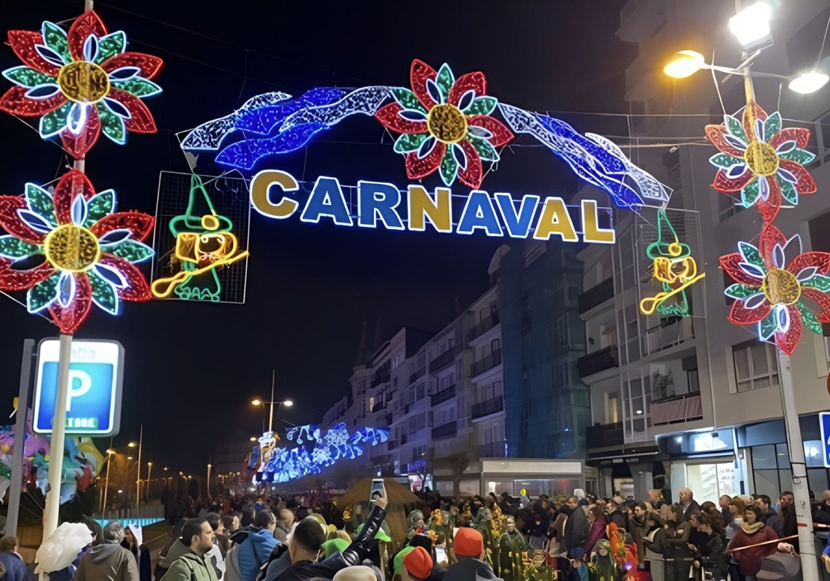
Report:
[{"label": "bare lower part of right-hand lamp post, below its light flowers", "polygon": [[813,540],[813,515],[810,511],[810,491],[807,486],[807,465],[804,462],[804,444],[801,426],[798,424],[798,410],[793,394],[793,370],[788,354],[779,351],[779,379],[781,383],[781,405],[784,408],[784,424],[787,427],[789,464],[793,471],[793,496],[795,518],[798,520],[798,554],[801,556],[803,581],[818,581],[818,561]]}]

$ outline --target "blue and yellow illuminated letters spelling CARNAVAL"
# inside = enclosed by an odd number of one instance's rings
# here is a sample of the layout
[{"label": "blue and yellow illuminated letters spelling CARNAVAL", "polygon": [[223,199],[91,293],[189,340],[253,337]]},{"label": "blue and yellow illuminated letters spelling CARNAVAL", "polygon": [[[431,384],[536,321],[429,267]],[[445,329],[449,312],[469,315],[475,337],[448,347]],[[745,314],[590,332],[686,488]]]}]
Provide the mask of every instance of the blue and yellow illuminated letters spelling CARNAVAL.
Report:
[{"label": "blue and yellow illuminated letters spelling CARNAVAL", "polygon": [[[576,220],[564,200],[528,195],[515,200],[509,193],[490,194],[473,190],[458,216],[453,215],[452,192],[436,188],[433,193],[410,185],[402,193],[392,183],[359,181],[356,203],[347,201],[337,178],[317,178],[305,203],[290,195],[300,189],[297,179],[281,170],[266,169],[251,179],[251,204],[264,216],[285,219],[300,212],[300,222],[329,221],[338,226],[423,232],[427,224],[436,232],[489,237],[613,244],[613,228],[600,227],[600,208],[583,200]],[[354,205],[354,207],[353,207]],[[607,208],[610,218],[610,212]],[[581,237],[580,237],[581,234]]]}]

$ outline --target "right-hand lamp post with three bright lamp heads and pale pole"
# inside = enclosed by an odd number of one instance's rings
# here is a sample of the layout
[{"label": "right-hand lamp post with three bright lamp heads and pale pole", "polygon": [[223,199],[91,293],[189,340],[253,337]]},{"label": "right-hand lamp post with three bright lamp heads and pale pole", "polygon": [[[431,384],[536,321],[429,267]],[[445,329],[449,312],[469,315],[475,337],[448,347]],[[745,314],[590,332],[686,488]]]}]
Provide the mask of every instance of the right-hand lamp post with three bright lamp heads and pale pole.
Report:
[{"label": "right-hand lamp post with three bright lamp heads and pale pole", "polygon": [[[744,77],[744,87],[747,104],[754,102],[755,90],[752,76],[773,76],[788,79],[789,89],[798,93],[808,94],[819,90],[830,77],[823,72],[803,72],[796,77],[772,75],[751,71],[751,64],[764,48],[772,44],[769,34],[769,5],[765,2],[754,2],[730,18],[730,31],[738,38],[744,47],[743,62],[736,69],[707,65],[703,56],[694,51],[681,51],[678,56],[669,62],[663,69],[666,75],[676,78],[691,76],[701,69],[723,71]],[[749,54],[749,51],[754,51]],[[749,105],[748,105],[749,106]],[[807,484],[807,466],[804,461],[804,445],[801,436],[801,426],[798,423],[798,409],[795,405],[793,392],[792,361],[789,354],[782,350],[778,352],[779,383],[781,391],[781,408],[784,415],[784,426],[789,448],[790,466],[793,478],[793,496],[795,498],[795,515],[798,521],[798,544],[801,557],[801,570],[804,581],[818,581],[818,567],[815,554],[815,541],[811,535],[813,517],[809,502]],[[717,426],[715,426],[716,428]]]}]

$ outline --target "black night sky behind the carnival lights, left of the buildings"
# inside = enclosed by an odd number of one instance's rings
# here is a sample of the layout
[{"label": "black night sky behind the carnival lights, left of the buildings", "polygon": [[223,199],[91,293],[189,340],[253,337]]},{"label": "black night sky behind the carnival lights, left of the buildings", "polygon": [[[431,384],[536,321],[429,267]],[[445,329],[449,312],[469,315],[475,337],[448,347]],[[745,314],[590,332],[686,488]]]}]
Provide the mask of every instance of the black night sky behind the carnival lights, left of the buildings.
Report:
[{"label": "black night sky behind the carnival lights, left of the buildings", "polygon": [[[623,71],[636,47],[614,37],[623,5],[95,2],[110,31],[127,33],[128,50],[164,58],[156,79],[164,94],[144,101],[158,134],[131,134],[125,147],[102,137],[87,156],[86,171],[98,191],[115,188],[120,209],[153,212],[159,171],[188,170],[174,133],[227,115],[268,90],[300,95],[315,86],[408,86],[413,58],[436,69],[447,61],[457,76],[483,71],[489,94],[526,110],[624,112]],[[37,30],[43,20],[70,20],[82,10],[80,0],[4,2],[2,28]],[[0,67],[18,64],[2,46]],[[9,83],[2,82],[6,90]],[[618,135],[625,126],[592,115],[559,116],[581,131]],[[0,115],[0,135],[0,192],[19,195],[27,181],[46,183],[64,171],[61,149],[19,120]],[[377,122],[359,116],[313,142],[307,155],[267,159],[258,168],[405,188],[403,158],[392,151],[388,135],[382,138]],[[197,171],[217,173],[204,159]],[[502,152],[483,188],[544,196],[572,183],[553,154],[517,146]],[[425,185],[436,183],[427,179]],[[464,192],[460,184],[453,187],[453,193]],[[380,314],[385,337],[404,325],[440,330],[455,315],[456,297],[463,308],[486,290],[486,269],[499,243],[295,219],[276,223],[252,212],[245,305],[129,303],[117,319],[95,310],[76,335],[125,346],[124,408],[115,444],[137,438],[143,422],[146,455],[173,470],[196,471],[217,440],[260,431],[261,415],[249,400],[268,395],[271,369],[277,371],[276,398],[295,401],[281,417],[319,422],[349,389],[364,315],[374,328]],[[0,384],[10,408],[22,339],[55,336],[56,327],[8,299],[0,301],[0,320]]]}]

